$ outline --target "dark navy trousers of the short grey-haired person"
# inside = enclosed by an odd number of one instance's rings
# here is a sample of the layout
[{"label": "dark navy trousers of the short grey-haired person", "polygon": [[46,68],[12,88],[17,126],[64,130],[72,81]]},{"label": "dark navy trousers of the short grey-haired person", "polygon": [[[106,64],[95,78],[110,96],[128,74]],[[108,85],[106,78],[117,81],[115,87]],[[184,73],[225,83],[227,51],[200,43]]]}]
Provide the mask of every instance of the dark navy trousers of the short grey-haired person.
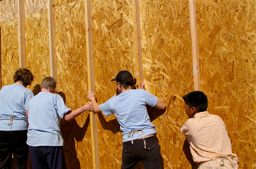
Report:
[{"label": "dark navy trousers of the short grey-haired person", "polygon": [[29,146],[33,169],[66,169],[62,146]]}]

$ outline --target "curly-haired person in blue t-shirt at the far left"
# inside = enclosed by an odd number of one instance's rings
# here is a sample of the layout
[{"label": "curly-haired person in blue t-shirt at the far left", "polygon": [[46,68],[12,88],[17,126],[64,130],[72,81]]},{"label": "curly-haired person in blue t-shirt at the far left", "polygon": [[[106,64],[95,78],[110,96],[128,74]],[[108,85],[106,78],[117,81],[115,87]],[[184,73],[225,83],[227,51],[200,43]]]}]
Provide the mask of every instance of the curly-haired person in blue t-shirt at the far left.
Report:
[{"label": "curly-haired person in blue t-shirt at the far left", "polygon": [[28,69],[18,69],[14,84],[0,91],[0,168],[11,168],[14,155],[15,168],[27,168],[28,102],[34,97],[27,88],[33,81]]}]

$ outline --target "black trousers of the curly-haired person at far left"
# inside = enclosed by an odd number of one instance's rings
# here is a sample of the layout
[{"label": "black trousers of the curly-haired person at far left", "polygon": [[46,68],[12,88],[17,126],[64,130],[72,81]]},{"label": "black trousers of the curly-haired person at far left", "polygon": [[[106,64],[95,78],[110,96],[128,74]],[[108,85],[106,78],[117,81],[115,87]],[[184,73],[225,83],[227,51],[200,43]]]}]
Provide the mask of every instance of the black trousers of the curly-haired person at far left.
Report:
[{"label": "black trousers of the curly-haired person at far left", "polygon": [[28,145],[27,132],[0,131],[0,168],[11,168],[11,156],[14,155],[15,169],[27,168]]}]

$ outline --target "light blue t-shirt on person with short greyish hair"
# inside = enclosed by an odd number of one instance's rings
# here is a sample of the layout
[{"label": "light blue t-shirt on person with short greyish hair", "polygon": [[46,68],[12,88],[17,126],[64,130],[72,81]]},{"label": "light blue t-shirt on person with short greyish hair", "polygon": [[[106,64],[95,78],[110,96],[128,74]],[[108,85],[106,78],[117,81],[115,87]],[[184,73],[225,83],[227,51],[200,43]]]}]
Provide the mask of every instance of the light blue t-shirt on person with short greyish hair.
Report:
[{"label": "light blue t-shirt on person with short greyish hair", "polygon": [[70,108],[59,94],[41,91],[28,104],[28,139],[31,146],[63,146],[58,116]]}]

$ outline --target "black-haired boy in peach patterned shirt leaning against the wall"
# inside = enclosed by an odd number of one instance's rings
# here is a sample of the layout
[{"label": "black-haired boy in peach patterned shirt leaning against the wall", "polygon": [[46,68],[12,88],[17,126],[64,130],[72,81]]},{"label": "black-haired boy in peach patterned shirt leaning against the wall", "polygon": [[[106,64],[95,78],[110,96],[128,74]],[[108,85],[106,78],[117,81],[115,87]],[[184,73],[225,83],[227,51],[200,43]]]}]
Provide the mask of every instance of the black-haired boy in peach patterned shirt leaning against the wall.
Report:
[{"label": "black-haired boy in peach patterned shirt leaning against the wall", "polygon": [[202,91],[183,96],[189,119],[180,131],[190,142],[193,161],[199,169],[238,168],[238,156],[232,153],[225,123],[218,115],[207,112],[208,99]]}]

